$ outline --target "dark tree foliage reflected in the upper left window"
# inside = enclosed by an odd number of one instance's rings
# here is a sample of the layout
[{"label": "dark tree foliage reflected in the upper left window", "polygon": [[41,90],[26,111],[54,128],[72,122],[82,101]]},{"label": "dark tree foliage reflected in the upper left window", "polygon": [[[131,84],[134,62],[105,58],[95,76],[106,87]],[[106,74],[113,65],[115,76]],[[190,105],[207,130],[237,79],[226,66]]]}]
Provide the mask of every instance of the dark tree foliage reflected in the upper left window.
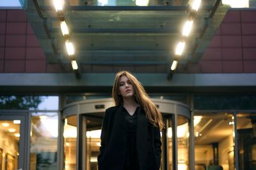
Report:
[{"label": "dark tree foliage reflected in the upper left window", "polygon": [[42,96],[0,96],[0,109],[35,109],[42,101]]}]

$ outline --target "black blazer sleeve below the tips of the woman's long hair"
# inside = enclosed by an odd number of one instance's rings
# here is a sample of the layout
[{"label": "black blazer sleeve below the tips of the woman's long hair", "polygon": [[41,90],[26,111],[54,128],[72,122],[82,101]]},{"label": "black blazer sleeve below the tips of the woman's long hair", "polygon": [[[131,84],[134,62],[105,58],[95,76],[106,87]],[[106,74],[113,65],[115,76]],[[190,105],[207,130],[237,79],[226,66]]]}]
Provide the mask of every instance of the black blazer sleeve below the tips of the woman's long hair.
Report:
[{"label": "black blazer sleeve below the tips of the woman's long hair", "polygon": [[157,159],[157,163],[158,163],[158,169],[160,167],[161,164],[161,135],[160,135],[160,129],[159,127],[154,127],[154,149],[155,149],[155,154],[156,154],[156,159]]}]

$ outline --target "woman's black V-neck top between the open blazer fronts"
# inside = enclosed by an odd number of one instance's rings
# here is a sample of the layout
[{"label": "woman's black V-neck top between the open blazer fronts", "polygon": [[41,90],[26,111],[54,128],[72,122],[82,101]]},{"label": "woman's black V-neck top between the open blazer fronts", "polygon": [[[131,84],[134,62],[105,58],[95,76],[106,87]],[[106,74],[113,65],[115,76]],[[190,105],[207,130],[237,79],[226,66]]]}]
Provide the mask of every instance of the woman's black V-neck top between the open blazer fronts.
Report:
[{"label": "woman's black V-neck top between the open blazer fronts", "polygon": [[133,115],[123,108],[125,122],[127,124],[127,154],[125,161],[125,170],[136,170],[139,167],[138,154],[136,149],[136,129],[138,123],[138,108]]}]

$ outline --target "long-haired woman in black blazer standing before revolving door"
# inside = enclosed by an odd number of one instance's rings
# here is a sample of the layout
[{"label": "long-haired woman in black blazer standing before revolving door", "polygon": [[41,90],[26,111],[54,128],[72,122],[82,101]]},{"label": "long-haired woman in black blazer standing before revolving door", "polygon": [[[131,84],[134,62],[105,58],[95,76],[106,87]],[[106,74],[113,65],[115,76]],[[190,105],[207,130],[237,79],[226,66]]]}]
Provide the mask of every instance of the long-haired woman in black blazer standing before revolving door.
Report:
[{"label": "long-haired woman in black blazer standing before revolving door", "polygon": [[99,170],[159,170],[160,111],[128,71],[116,74],[112,96],[116,106],[103,118]]}]

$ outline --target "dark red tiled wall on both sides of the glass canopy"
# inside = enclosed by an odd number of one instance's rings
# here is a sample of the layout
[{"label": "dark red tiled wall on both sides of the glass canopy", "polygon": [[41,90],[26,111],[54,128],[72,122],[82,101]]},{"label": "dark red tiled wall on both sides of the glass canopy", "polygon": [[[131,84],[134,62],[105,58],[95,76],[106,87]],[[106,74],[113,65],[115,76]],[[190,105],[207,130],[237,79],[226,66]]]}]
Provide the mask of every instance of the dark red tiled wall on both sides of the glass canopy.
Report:
[{"label": "dark red tiled wall on both sides of the glass canopy", "polygon": [[[229,10],[200,62],[179,65],[177,73],[256,73],[255,16],[256,10]],[[46,62],[24,11],[0,10],[0,73],[69,71]]]}]

